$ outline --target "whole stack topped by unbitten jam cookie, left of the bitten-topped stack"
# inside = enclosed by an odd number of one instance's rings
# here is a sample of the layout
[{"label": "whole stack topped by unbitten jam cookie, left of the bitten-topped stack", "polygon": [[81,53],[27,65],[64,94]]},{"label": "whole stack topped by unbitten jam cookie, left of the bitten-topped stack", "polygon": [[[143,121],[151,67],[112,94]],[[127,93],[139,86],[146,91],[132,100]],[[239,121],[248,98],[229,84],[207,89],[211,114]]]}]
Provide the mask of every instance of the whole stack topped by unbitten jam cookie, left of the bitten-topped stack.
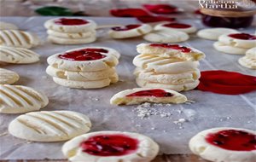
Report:
[{"label": "whole stack topped by unbitten jam cookie, left of the bitten-topped stack", "polygon": [[46,72],[56,84],[77,89],[96,89],[116,83],[119,52],[106,47],[71,49],[51,55]]}]

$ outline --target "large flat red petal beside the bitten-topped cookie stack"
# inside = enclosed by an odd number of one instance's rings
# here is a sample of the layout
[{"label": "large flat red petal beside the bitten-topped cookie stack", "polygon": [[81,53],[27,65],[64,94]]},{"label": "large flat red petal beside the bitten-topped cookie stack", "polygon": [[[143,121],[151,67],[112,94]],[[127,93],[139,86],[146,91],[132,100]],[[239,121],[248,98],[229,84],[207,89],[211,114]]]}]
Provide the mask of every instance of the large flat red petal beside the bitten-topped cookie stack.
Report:
[{"label": "large flat red petal beside the bitten-topped cookie stack", "polygon": [[197,89],[224,95],[240,95],[256,90],[256,77],[222,70],[201,72]]}]

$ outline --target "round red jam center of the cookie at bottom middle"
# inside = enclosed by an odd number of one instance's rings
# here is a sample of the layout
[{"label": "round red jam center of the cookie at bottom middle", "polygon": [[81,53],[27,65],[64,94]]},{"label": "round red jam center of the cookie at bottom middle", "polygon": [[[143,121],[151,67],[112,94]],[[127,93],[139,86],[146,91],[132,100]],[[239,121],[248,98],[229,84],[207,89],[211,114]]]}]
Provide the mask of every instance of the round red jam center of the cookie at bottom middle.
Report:
[{"label": "round red jam center of the cookie at bottom middle", "polygon": [[100,135],[90,137],[80,147],[83,152],[96,156],[122,156],[136,152],[138,143],[129,136]]}]

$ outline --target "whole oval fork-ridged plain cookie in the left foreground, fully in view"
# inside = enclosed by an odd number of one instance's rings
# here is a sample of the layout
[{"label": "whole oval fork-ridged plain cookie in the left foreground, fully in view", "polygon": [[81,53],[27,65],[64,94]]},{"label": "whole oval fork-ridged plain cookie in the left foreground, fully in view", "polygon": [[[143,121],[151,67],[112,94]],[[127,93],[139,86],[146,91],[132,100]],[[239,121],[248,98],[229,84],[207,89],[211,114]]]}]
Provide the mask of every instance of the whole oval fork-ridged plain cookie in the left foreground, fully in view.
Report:
[{"label": "whole oval fork-ridged plain cookie in the left foreground, fully in view", "polygon": [[90,130],[90,119],[72,111],[42,111],[20,115],[9,124],[12,136],[32,142],[61,142]]}]

